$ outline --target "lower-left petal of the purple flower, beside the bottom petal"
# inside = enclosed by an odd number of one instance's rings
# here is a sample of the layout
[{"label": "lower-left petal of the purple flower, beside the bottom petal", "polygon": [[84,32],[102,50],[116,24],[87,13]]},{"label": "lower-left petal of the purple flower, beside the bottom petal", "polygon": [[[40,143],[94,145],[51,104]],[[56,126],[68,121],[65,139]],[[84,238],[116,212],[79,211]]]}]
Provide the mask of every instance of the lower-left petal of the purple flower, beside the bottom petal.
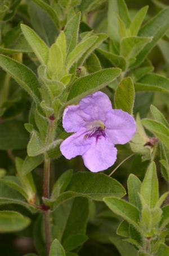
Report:
[{"label": "lower-left petal of the purple flower, beside the bottom petal", "polygon": [[66,138],[60,145],[60,151],[65,158],[71,159],[84,154],[92,143],[91,139],[84,138],[85,132],[77,132]]}]

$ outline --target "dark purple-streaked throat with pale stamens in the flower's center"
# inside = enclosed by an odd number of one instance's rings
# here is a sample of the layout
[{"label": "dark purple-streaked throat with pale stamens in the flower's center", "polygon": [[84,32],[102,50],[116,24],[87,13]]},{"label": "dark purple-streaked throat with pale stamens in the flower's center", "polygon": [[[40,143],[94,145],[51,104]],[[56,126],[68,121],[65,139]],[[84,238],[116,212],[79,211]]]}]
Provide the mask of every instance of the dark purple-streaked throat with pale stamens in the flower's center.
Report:
[{"label": "dark purple-streaked throat with pale stamens in the flower's center", "polygon": [[84,138],[96,137],[96,140],[101,137],[105,137],[105,125],[100,120],[96,120],[91,122],[88,125],[88,133],[84,136]]}]

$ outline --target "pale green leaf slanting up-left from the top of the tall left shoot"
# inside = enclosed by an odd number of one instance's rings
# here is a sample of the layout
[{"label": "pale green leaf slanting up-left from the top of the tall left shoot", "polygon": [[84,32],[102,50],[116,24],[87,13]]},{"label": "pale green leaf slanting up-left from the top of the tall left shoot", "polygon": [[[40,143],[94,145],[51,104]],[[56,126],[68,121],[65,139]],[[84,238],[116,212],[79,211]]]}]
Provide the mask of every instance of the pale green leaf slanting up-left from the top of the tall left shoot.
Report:
[{"label": "pale green leaf slanting up-left from the top of the tall left shoot", "polygon": [[21,30],[41,64],[47,64],[48,47],[32,28],[21,24]]}]

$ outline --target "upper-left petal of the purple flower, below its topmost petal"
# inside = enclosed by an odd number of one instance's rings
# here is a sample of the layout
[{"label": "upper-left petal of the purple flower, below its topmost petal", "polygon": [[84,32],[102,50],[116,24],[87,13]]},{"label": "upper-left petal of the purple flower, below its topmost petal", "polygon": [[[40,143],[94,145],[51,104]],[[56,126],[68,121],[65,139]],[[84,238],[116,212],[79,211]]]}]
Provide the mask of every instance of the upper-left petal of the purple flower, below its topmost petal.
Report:
[{"label": "upper-left petal of the purple flower, below its topmost petal", "polygon": [[64,110],[63,127],[66,132],[78,132],[90,121],[90,115],[79,109],[79,105],[68,106]]}]

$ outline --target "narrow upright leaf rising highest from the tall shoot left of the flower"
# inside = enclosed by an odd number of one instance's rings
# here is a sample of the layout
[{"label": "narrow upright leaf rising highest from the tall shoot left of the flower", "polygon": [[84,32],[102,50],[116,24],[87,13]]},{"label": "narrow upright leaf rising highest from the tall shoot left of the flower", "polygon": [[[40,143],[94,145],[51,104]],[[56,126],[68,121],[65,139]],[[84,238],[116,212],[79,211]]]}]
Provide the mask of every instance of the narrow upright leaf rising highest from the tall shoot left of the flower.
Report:
[{"label": "narrow upright leaf rising highest from the tall shoot left of the flower", "polygon": [[69,54],[76,46],[78,40],[79,24],[81,19],[81,13],[78,12],[68,21],[64,29],[66,36],[66,49]]}]

